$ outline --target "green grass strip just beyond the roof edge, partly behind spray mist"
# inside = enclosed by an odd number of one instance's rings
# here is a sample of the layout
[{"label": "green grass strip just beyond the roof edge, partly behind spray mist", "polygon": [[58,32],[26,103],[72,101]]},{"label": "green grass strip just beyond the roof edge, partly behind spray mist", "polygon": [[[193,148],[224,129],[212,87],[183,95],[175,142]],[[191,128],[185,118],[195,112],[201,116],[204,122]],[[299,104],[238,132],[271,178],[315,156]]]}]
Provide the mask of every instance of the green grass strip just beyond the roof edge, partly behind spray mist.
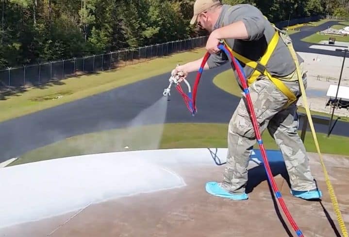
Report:
[{"label": "green grass strip just beyond the roof edge, partly behind spray mist", "polygon": [[[78,135],[27,152],[10,166],[66,156],[100,152],[170,148],[223,148],[227,147],[227,124],[219,123],[172,123],[149,125],[128,129],[115,129],[98,133]],[[266,131],[263,135],[266,149],[277,150],[273,138]],[[349,154],[349,137],[317,134],[321,152],[328,154]],[[305,136],[307,152],[316,152],[311,133]],[[254,146],[259,149],[258,145]]]}]

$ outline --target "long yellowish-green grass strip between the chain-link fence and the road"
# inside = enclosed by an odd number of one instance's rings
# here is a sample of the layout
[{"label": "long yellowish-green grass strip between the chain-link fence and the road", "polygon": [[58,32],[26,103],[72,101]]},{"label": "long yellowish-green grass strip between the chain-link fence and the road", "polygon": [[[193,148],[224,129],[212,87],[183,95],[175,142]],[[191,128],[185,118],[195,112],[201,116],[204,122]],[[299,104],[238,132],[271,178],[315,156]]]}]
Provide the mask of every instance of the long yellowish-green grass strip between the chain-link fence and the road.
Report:
[{"label": "long yellowish-green grass strip between the chain-link fence and the road", "polygon": [[[187,51],[115,70],[27,88],[0,100],[0,122],[166,73],[176,64],[199,59],[204,53],[204,49]],[[164,78],[164,86],[167,83],[168,78]]]}]

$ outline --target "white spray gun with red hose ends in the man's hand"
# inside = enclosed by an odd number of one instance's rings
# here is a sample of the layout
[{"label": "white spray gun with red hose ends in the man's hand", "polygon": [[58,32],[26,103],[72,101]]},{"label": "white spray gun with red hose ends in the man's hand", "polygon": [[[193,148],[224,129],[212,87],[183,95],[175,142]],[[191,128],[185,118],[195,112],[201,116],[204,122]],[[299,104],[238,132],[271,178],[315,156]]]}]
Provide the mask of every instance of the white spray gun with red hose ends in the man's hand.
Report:
[{"label": "white spray gun with red hose ends in the man's hand", "polygon": [[[178,66],[178,65],[177,65]],[[188,83],[187,80],[185,80],[183,78],[184,76],[184,73],[183,71],[180,71],[178,72],[177,74],[173,74],[171,73],[171,77],[168,79],[169,81],[169,85],[167,88],[164,89],[164,92],[163,92],[163,95],[165,97],[169,97],[171,96],[171,93],[170,93],[170,90],[171,90],[171,86],[173,84],[176,85],[176,89],[178,90],[178,92],[182,95],[183,97],[183,100],[187,106],[187,108],[189,109],[189,111],[192,113],[192,115],[194,116],[194,109],[193,109],[193,103],[192,103],[192,95],[191,95],[191,86],[190,84]],[[187,85],[188,87],[188,95],[186,95],[184,92],[183,92],[183,89],[182,89],[182,86],[179,82],[180,78],[182,78],[183,82]],[[167,99],[168,100],[168,99]]]}]

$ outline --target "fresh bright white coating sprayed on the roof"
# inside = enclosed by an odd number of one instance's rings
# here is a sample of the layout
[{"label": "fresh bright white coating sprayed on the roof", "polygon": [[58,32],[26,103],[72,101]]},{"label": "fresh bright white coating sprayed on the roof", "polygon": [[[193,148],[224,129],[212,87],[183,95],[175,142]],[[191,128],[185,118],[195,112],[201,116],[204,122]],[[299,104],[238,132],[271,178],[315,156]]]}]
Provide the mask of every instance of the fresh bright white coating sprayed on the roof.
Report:
[{"label": "fresh bright white coating sprayed on the roof", "polygon": [[[226,149],[212,149],[225,162]],[[91,203],[180,188],[171,166],[216,166],[208,149],[114,152],[0,169],[0,228],[78,211]]]}]

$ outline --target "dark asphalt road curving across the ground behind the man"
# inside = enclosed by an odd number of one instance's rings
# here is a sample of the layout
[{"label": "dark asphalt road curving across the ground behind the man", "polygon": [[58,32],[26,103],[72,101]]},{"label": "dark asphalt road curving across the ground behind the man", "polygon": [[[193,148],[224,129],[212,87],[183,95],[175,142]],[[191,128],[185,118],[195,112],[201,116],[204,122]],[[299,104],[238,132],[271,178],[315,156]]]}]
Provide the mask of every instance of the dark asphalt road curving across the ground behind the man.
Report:
[{"label": "dark asphalt road curving across the ground behind the man", "polygon": [[[332,24],[333,22],[327,22],[316,28],[305,27],[300,33],[291,35],[296,42],[296,51],[341,55],[335,51],[309,49],[308,46],[311,44],[299,41]],[[230,66],[227,64],[203,72],[197,95],[198,114],[194,117],[187,110],[182,97],[173,88],[171,100],[168,102],[166,122],[227,123],[239,98],[220,90],[212,80],[218,73],[228,68]],[[195,75],[196,73],[192,73],[188,77],[191,85],[194,84]],[[162,97],[164,88],[168,85],[168,76],[169,72],[0,123],[0,162],[66,137],[125,127],[143,109]],[[183,86],[183,89],[186,88]],[[326,125],[318,124],[315,128],[317,132],[322,133],[327,133],[328,129]],[[338,122],[332,134],[349,136],[349,125]]]}]

